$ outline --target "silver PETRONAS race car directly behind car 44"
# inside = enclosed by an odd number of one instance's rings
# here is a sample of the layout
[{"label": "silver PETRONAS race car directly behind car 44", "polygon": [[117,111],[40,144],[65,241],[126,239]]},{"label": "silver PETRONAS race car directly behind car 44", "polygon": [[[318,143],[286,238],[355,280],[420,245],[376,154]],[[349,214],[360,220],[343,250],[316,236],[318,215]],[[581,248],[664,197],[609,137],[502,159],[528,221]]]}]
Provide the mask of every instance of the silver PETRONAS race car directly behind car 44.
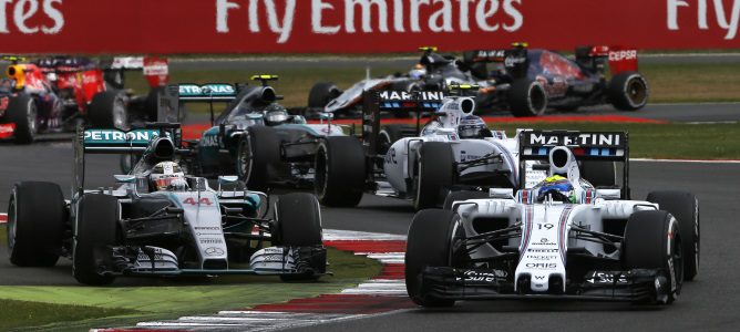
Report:
[{"label": "silver PETRONAS race car directly behind car 44", "polygon": [[268,84],[277,79],[255,75],[253,80],[261,82],[257,86],[179,84],[167,89],[163,96],[169,102],[164,104],[173,107],[191,102],[229,103],[201,139],[189,145],[194,172],[208,177],[236,172],[257,190],[311,184],[318,142],[345,133],[330,118],[327,124],[307,124],[305,117],[288,114],[278,103],[282,96]]}]

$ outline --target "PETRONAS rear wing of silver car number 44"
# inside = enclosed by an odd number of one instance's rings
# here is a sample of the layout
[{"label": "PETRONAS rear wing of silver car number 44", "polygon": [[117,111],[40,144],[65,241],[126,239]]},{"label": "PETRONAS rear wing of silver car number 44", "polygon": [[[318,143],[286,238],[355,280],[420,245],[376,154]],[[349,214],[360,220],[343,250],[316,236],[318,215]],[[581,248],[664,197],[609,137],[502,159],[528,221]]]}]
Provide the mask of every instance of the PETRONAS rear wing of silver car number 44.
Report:
[{"label": "PETRONAS rear wing of silver car number 44", "polygon": [[132,131],[78,127],[74,136],[73,190],[82,193],[84,188],[86,154],[142,154],[158,137],[169,137],[176,151],[182,146],[178,123],[148,123],[145,128]]}]

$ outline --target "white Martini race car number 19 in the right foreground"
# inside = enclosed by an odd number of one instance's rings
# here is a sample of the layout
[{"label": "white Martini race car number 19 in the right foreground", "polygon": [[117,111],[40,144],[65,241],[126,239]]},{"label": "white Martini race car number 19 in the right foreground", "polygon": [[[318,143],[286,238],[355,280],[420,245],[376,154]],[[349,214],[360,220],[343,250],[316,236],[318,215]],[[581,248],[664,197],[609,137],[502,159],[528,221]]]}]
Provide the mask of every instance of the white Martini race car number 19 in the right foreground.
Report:
[{"label": "white Martini race car number 19 in the right foreground", "polygon": [[[422,210],[408,235],[405,283],[419,305],[458,300],[578,299],[671,303],[699,263],[699,203],[689,193],[630,200],[626,133],[527,131],[522,162],[548,177]],[[621,184],[595,188],[577,160],[624,164]],[[451,194],[455,196],[458,193]]]}]

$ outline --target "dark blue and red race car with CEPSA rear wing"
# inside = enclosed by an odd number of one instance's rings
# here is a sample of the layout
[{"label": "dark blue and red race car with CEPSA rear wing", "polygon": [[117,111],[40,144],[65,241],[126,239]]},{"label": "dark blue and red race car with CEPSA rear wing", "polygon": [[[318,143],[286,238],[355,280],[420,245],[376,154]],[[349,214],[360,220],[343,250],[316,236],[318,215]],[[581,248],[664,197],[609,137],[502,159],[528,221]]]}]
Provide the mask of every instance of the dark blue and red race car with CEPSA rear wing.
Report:
[{"label": "dark blue and red race car with CEPSA rear wing", "polygon": [[[545,110],[573,111],[611,104],[620,111],[643,108],[648,101],[647,80],[637,72],[637,51],[580,46],[575,60],[547,50],[470,51],[465,66],[483,87],[476,102],[483,110],[508,110],[514,116],[537,116]],[[486,63],[503,63],[489,71]],[[606,79],[607,63],[611,79]]]}]

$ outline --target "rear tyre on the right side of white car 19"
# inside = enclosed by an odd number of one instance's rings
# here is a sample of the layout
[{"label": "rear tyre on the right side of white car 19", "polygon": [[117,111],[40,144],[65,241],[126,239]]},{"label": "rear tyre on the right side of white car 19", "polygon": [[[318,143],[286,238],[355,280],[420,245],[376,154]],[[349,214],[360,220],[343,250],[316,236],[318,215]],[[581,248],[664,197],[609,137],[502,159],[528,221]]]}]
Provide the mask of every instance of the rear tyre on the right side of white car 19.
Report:
[{"label": "rear tyre on the right side of white car 19", "polygon": [[699,273],[699,200],[685,191],[652,191],[646,199],[657,203],[678,220],[684,248],[684,280],[691,281]]}]

